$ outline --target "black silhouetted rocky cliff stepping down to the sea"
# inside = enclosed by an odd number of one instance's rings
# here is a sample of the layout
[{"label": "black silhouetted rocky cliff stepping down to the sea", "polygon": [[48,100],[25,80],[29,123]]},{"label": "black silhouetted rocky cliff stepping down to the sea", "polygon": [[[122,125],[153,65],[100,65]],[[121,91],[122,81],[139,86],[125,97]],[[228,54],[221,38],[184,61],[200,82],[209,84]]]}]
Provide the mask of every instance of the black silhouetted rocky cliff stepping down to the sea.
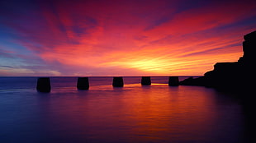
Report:
[{"label": "black silhouetted rocky cliff stepping down to the sea", "polygon": [[[238,62],[217,62],[213,71],[199,78],[189,77],[180,85],[202,85],[220,90],[247,90],[255,84],[252,79],[256,65],[256,31],[244,35],[243,57]],[[253,77],[254,78],[254,77]]]}]

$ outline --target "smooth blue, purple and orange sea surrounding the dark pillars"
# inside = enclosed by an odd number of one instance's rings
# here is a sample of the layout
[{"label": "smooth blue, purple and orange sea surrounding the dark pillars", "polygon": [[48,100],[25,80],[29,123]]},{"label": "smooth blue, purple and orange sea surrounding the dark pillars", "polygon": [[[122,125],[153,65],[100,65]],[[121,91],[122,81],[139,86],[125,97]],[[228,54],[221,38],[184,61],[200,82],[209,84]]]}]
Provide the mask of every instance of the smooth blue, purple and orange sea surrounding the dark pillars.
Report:
[{"label": "smooth blue, purple and orange sea surrounding the dark pillars", "polygon": [[244,142],[243,107],[211,88],[169,87],[168,77],[52,77],[50,94],[36,77],[0,77],[0,142]]}]

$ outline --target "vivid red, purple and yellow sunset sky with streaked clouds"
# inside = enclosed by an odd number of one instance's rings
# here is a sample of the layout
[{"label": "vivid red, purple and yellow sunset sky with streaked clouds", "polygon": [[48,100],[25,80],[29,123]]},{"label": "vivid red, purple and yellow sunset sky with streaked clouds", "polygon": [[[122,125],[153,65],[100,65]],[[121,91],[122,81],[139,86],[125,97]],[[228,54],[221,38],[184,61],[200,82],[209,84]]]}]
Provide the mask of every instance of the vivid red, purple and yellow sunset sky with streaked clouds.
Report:
[{"label": "vivid red, purple and yellow sunset sky with streaked clouds", "polygon": [[2,0],[0,76],[202,76],[254,30],[255,0]]}]

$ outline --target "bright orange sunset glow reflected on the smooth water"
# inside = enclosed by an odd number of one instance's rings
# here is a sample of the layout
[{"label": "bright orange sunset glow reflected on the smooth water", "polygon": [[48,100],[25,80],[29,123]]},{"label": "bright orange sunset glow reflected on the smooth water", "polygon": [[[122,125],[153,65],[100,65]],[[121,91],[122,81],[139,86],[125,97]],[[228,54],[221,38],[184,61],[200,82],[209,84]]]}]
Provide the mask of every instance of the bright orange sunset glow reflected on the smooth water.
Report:
[{"label": "bright orange sunset glow reflected on the smooth water", "polygon": [[211,95],[206,97],[204,91],[191,92],[192,94],[186,90],[177,92],[181,89],[175,87],[167,89],[169,93],[166,94],[167,90],[159,88],[158,92],[135,92],[135,99],[125,99],[123,102],[127,104],[130,119],[136,122],[133,131],[138,136],[144,136],[147,140],[159,136],[161,140],[166,136],[172,136],[174,132],[186,132],[191,133],[189,137],[192,138],[193,134],[212,128],[211,123],[216,122],[216,111],[206,108],[213,104],[211,102],[214,99]]}]

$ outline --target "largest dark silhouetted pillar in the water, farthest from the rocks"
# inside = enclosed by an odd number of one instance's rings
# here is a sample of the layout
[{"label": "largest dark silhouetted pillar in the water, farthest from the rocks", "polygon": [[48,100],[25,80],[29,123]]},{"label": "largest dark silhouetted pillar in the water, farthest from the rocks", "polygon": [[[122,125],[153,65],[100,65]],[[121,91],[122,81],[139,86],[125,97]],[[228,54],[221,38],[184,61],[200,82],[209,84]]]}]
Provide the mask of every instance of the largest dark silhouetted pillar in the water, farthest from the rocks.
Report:
[{"label": "largest dark silhouetted pillar in the water, farthest from the rocks", "polygon": [[39,92],[50,92],[50,77],[39,77],[36,90]]}]

